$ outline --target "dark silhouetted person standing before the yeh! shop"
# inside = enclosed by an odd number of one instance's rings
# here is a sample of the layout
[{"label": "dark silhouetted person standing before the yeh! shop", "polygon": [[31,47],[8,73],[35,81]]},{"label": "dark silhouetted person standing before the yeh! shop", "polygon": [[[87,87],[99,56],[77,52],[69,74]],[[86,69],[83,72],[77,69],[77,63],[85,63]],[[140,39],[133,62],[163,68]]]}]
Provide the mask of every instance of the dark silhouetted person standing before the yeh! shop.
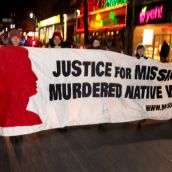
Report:
[{"label": "dark silhouetted person standing before the yeh! shop", "polygon": [[160,51],[160,61],[161,62],[167,62],[167,57],[169,55],[169,51],[170,51],[170,47],[167,44],[167,42],[164,40],[162,47],[161,47],[161,51]]}]

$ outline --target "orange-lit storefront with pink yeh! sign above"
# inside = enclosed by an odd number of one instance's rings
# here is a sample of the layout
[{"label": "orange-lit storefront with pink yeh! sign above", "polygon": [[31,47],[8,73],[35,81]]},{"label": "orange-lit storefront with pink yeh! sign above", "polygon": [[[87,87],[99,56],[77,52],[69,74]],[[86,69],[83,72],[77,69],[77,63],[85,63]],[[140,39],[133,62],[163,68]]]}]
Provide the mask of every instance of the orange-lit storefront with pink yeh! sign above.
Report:
[{"label": "orange-lit storefront with pink yeh! sign above", "polygon": [[172,61],[172,5],[170,1],[159,1],[135,7],[135,30],[133,53],[137,44],[146,47],[146,56],[160,61],[160,50],[164,40],[170,46],[168,61]]}]

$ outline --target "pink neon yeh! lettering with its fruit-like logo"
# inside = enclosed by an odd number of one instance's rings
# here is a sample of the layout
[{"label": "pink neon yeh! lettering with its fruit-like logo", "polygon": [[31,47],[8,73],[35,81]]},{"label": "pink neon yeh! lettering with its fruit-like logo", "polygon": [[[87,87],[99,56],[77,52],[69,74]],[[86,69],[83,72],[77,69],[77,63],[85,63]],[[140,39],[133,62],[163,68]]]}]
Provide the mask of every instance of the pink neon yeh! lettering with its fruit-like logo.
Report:
[{"label": "pink neon yeh! lettering with its fruit-like logo", "polygon": [[142,11],[140,12],[139,16],[139,23],[149,23],[149,21],[154,20],[161,20],[163,17],[163,5],[156,6],[155,8],[152,8],[150,10],[147,10],[147,6],[142,8]]}]

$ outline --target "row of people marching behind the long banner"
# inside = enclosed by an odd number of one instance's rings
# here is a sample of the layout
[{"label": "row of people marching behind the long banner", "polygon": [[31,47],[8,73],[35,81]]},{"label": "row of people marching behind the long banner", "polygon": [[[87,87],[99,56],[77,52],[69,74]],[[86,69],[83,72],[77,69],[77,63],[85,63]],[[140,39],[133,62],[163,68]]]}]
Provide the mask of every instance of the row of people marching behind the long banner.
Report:
[{"label": "row of people marching behind the long banner", "polygon": [[[1,45],[13,45],[13,46],[20,46],[21,44],[21,34],[17,29],[12,29],[8,36],[6,36],[3,41],[1,42]],[[54,32],[52,38],[50,39],[48,44],[41,44],[40,47],[42,48],[78,48],[75,41],[73,42],[64,42],[62,35],[60,32]],[[102,48],[101,41],[98,38],[94,38],[91,42],[91,45],[89,46],[90,49],[105,49],[109,51],[114,51],[118,53],[124,53],[123,52],[123,44],[120,38],[117,39],[115,45],[107,45],[105,48]],[[168,56],[169,56],[170,47],[167,44],[167,42],[164,40],[163,44],[161,46],[160,50],[160,61],[163,63],[168,62]],[[137,59],[148,59],[145,56],[146,48],[143,44],[138,44],[136,46],[135,52],[133,56],[135,56]]]}]

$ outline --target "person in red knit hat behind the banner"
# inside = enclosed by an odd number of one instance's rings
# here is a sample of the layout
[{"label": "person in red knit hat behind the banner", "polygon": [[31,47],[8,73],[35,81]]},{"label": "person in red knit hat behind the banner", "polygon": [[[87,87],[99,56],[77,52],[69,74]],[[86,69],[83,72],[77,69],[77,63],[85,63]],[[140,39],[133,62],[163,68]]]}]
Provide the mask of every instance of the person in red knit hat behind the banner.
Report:
[{"label": "person in red knit hat behind the banner", "polygon": [[52,48],[62,48],[63,39],[60,32],[54,32],[52,39],[50,41],[50,47]]}]

